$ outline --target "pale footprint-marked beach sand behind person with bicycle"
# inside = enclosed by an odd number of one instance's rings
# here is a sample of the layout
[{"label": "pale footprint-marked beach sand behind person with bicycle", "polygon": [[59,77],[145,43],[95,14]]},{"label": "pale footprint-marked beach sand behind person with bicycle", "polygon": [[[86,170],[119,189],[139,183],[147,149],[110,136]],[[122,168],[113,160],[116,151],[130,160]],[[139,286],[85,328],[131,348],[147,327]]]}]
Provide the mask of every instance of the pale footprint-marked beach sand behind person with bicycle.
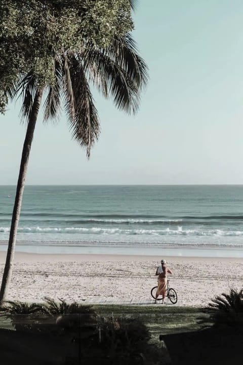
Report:
[{"label": "pale footprint-marked beach sand behind person with bicycle", "polygon": [[[6,252],[0,252],[1,277]],[[205,306],[215,295],[240,289],[243,259],[163,257],[172,270],[178,305]],[[15,253],[8,300],[53,299],[86,303],[151,303],[160,258],[136,255]]]}]

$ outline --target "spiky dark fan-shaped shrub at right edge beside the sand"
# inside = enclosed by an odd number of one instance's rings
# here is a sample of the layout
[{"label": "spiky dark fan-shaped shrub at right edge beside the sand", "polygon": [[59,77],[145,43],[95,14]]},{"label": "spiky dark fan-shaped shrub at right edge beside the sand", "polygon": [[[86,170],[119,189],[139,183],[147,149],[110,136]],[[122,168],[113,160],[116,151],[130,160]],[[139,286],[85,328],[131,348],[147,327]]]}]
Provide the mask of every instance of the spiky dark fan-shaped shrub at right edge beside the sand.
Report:
[{"label": "spiky dark fan-shaped shrub at right edge beside the sand", "polygon": [[233,327],[243,332],[243,289],[231,288],[229,294],[221,294],[209,303],[206,311],[214,326]]}]

